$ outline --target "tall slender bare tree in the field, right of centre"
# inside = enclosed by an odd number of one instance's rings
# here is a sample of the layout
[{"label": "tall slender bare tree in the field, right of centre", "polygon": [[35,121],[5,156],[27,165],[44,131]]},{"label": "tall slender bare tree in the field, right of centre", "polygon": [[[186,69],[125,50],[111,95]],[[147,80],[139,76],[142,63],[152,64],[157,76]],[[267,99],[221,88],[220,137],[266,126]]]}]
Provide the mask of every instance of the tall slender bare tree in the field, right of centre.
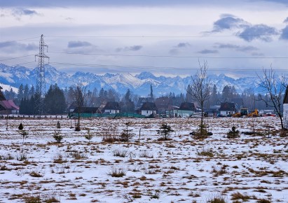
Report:
[{"label": "tall slender bare tree in the field, right of centre", "polygon": [[[203,107],[205,102],[207,102],[212,94],[212,85],[210,79],[207,78],[207,61],[204,61],[203,64],[200,64],[199,61],[199,70],[196,72],[194,76],[192,76],[192,80],[190,83],[189,90],[187,90],[188,94],[191,94],[191,97],[194,101],[198,102],[201,107],[201,124],[200,124],[200,134],[201,137],[203,134]],[[206,135],[205,135],[206,136]]]}]

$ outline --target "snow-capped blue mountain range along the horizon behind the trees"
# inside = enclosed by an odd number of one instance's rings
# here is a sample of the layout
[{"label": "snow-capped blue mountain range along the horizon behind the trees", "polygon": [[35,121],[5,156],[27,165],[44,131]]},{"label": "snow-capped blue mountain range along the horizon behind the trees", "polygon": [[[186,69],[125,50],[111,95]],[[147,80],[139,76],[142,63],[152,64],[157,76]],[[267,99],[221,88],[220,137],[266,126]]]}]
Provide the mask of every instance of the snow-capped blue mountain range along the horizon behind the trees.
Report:
[{"label": "snow-capped blue mountain range along the horizon behind the trees", "polygon": [[[55,67],[49,64],[45,65],[46,69],[46,89],[51,84],[57,83],[58,86],[65,88],[70,85],[74,85],[78,82],[88,85],[90,90],[94,87],[100,90],[114,89],[117,92],[124,94],[128,88],[135,94],[140,96],[147,96],[150,92],[150,85],[153,87],[153,94],[156,96],[166,95],[170,92],[180,94],[186,92],[186,87],[191,81],[191,77],[181,78],[154,76],[149,72],[142,72],[136,76],[132,76],[130,73],[106,73],[103,76],[94,73],[76,72],[73,75],[64,73],[55,69]],[[25,66],[7,66],[6,64],[0,64],[0,83],[2,85],[11,85],[11,87],[19,87],[23,85],[36,84],[37,69],[28,69]],[[257,77],[245,77],[245,78],[231,78],[220,75],[210,75],[212,85],[217,86],[217,90],[221,92],[225,85],[234,85],[238,92],[243,92],[245,89],[252,88],[254,92],[259,92]],[[5,86],[6,87],[6,86]]]}]

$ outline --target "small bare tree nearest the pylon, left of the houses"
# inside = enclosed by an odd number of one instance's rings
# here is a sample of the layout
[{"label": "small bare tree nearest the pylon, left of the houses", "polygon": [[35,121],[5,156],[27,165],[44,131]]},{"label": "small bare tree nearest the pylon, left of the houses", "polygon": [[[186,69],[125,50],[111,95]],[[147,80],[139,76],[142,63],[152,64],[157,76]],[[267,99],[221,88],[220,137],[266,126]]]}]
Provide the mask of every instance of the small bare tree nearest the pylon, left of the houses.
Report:
[{"label": "small bare tree nearest the pylon, left of the houses", "polygon": [[78,113],[78,123],[75,127],[76,131],[80,131],[80,114],[81,109],[85,105],[87,99],[88,99],[88,91],[87,86],[82,85],[81,83],[78,83],[77,85],[72,86],[73,89],[73,97],[76,104],[76,109]]}]

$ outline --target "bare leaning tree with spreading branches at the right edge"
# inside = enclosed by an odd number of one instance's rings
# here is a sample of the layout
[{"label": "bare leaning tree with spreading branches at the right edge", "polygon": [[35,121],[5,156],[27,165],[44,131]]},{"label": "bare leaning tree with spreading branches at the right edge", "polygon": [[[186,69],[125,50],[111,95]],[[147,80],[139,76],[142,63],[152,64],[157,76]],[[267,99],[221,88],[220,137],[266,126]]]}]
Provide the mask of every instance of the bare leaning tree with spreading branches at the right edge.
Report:
[{"label": "bare leaning tree with spreading branches at the right edge", "polygon": [[[273,107],[275,113],[280,118],[281,128],[283,129],[283,119],[282,119],[282,96],[286,90],[287,78],[282,75],[280,78],[277,77],[275,71],[273,71],[272,66],[269,70],[263,69],[263,77],[257,75],[260,83],[259,87],[263,88],[263,91],[266,92],[266,96],[263,97],[259,94],[260,98],[263,102],[266,103],[266,106]],[[280,80],[279,80],[280,79]],[[280,83],[279,83],[280,81]],[[267,99],[268,98],[268,99]]]}]

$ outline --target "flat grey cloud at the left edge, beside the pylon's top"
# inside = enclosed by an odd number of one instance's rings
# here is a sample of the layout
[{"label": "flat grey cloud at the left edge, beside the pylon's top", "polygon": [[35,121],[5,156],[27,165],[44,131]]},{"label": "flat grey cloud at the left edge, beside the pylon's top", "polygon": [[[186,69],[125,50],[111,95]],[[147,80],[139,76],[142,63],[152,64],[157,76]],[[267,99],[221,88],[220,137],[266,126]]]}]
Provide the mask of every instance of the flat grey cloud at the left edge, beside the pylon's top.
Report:
[{"label": "flat grey cloud at the left edge, beside the pylon's top", "polygon": [[15,41],[0,43],[1,52],[19,52],[37,50],[39,47],[34,43],[18,43]]}]

